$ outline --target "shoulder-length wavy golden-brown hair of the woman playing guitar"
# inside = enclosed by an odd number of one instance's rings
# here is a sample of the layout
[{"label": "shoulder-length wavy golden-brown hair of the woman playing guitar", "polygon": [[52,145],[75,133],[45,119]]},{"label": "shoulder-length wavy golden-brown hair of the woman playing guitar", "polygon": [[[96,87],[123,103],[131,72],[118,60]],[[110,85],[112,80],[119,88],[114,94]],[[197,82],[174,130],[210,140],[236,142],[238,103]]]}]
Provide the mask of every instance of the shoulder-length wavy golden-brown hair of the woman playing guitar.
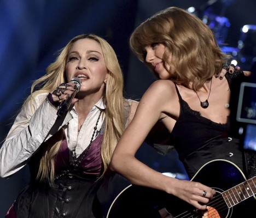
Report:
[{"label": "shoulder-length wavy golden-brown hair of the woman playing guitar", "polygon": [[211,29],[181,8],[159,11],[142,22],[130,37],[131,50],[144,63],[144,48],[155,43],[166,46],[163,60],[172,69],[170,80],[185,87],[192,82],[195,90],[219,72],[229,59],[220,50]]}]

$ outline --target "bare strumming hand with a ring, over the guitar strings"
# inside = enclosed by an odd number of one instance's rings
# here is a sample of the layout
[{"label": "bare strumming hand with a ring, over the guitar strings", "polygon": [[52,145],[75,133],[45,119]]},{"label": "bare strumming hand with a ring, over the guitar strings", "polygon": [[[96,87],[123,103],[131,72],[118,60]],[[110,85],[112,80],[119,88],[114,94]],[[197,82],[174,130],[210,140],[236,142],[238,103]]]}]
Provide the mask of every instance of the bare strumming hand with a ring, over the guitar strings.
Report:
[{"label": "bare strumming hand with a ring, over the guitar strings", "polygon": [[199,210],[205,210],[209,199],[216,194],[211,187],[195,181],[178,180],[173,187],[176,197],[188,202]]}]

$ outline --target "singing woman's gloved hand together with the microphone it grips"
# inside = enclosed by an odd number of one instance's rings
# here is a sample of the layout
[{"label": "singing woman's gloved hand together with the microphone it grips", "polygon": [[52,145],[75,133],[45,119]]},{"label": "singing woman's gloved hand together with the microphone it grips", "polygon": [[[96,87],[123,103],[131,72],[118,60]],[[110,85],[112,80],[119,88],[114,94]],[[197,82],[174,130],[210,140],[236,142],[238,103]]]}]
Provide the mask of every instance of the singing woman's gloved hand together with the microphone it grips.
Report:
[{"label": "singing woman's gloved hand together with the microphone it grips", "polygon": [[[71,87],[68,83],[62,83],[60,86],[54,90],[53,94],[56,95],[56,98],[61,101],[61,104],[59,106],[59,109],[57,111],[57,116],[62,117],[66,112],[68,111],[69,107],[72,104],[72,100],[74,99],[74,96],[79,92],[81,87],[81,80],[78,77],[72,78],[70,81],[71,83],[74,83],[75,86],[73,87],[74,90],[68,88]],[[67,92],[72,92],[72,94],[68,94]],[[60,97],[62,94],[66,95],[66,98],[61,99]]]}]

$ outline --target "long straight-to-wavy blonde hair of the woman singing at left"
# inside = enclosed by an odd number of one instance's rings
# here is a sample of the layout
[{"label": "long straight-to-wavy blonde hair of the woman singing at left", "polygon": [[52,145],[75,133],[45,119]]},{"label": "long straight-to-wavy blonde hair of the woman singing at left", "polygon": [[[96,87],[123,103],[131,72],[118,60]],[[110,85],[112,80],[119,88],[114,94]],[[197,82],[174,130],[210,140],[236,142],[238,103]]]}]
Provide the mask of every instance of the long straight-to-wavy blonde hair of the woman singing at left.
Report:
[{"label": "long straight-to-wavy blonde hair of the woman singing at left", "polygon": [[[67,82],[65,76],[65,66],[67,63],[69,50],[75,41],[85,38],[95,40],[98,44],[100,44],[104,56],[104,61],[108,70],[108,79],[103,94],[103,101],[104,104],[106,104],[106,110],[104,111],[105,128],[101,149],[103,175],[104,172],[106,172],[114,148],[124,131],[124,106],[127,106],[128,104],[128,102],[123,97],[124,81],[117,55],[115,54],[113,48],[107,43],[107,41],[94,34],[82,34],[74,37],[62,50],[59,51],[59,56],[55,62],[46,68],[46,74],[33,82],[31,87],[31,95],[28,99],[34,101],[34,96],[38,95],[39,93],[51,92],[56,89],[60,83]],[[34,91],[35,88],[40,84],[43,87]],[[43,156],[40,159],[37,179],[41,181],[48,180],[50,183],[53,183],[55,176],[55,156],[59,151],[62,137],[63,130],[60,130],[51,138],[51,143],[53,144],[47,143],[45,146]]]}]

